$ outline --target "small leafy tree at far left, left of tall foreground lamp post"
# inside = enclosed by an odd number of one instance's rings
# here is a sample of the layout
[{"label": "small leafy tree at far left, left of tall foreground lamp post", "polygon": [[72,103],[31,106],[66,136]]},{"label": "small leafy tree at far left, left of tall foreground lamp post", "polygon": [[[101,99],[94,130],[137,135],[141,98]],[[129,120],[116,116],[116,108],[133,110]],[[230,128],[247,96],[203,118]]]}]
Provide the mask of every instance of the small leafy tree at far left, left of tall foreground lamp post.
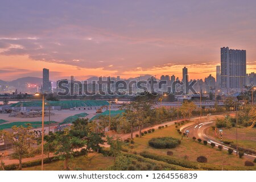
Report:
[{"label": "small leafy tree at far left, left of tall foreground lamp post", "polygon": [[28,125],[13,126],[13,134],[10,134],[10,139],[13,139],[14,152],[19,156],[19,170],[22,169],[22,158],[24,154],[30,152],[31,144],[36,143],[34,133],[30,131],[32,127]]}]

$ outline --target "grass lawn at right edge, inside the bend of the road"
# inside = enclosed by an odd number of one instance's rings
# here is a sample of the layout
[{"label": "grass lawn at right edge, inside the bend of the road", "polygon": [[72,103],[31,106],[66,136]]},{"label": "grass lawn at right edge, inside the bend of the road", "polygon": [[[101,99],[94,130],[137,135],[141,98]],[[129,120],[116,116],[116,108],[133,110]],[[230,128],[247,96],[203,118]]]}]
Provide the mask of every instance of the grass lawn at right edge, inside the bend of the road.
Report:
[{"label": "grass lawn at right edge, inside the bend of the road", "polygon": [[[212,128],[206,130],[206,133],[212,137],[216,137]],[[238,146],[256,151],[256,129],[247,129],[245,127],[238,128]],[[236,128],[223,129],[223,140],[233,141],[236,144]],[[217,138],[217,137],[216,137]],[[220,139],[220,138],[217,138]]]}]

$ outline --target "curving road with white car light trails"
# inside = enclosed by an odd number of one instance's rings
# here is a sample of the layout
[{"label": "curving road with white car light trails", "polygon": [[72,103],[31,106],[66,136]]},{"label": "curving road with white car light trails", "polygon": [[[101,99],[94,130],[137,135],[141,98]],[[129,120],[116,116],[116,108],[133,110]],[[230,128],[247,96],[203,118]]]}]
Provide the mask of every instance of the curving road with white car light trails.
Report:
[{"label": "curving road with white car light trails", "polygon": [[[224,117],[224,115],[222,117]],[[200,138],[200,139],[202,139],[202,141],[206,140],[209,144],[215,143],[216,146],[218,147],[219,145],[222,145],[222,143],[219,140],[217,140],[216,138],[205,134],[205,130],[208,127],[215,126],[216,118],[217,117],[210,116],[209,118],[204,119],[204,120],[202,120],[202,122],[199,122],[199,123],[195,123],[195,122],[188,123],[187,125],[182,126],[180,128],[180,130],[183,133],[185,133],[186,131],[189,131],[189,135],[188,135],[189,138],[193,138],[193,137]],[[220,118],[220,117],[218,117],[218,118]],[[223,145],[224,150],[228,150],[228,148],[231,148],[231,147]],[[232,149],[234,150],[233,154],[236,154],[236,152],[237,152],[236,149],[235,148],[232,148]],[[248,159],[251,159],[251,160],[254,160],[256,158],[255,155],[249,155],[249,154],[245,154],[245,157]]]}]

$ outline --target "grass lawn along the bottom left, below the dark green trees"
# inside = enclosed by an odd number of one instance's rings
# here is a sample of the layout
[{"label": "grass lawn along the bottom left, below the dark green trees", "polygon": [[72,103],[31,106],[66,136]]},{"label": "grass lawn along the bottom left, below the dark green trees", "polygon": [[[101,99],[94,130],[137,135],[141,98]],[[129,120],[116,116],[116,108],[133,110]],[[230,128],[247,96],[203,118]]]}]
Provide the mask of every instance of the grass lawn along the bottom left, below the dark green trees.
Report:
[{"label": "grass lawn along the bottom left, below the dark green trees", "polygon": [[[104,157],[97,152],[89,153],[87,156],[79,156],[69,160],[69,167],[72,170],[84,170],[84,171],[96,171],[105,169],[111,166],[114,162],[114,158]],[[40,171],[41,166],[34,166],[23,168],[24,171]],[[46,171],[59,171],[63,170],[63,160],[44,164],[44,170]]]}]

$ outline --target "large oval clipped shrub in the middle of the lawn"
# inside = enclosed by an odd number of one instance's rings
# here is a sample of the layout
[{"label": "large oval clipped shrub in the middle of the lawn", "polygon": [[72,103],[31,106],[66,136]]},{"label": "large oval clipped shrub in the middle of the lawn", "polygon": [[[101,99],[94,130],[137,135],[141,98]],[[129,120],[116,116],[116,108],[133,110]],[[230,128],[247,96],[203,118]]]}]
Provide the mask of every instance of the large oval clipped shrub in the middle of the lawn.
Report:
[{"label": "large oval clipped shrub in the middle of the lawn", "polygon": [[152,138],[148,144],[154,148],[175,148],[180,144],[180,140],[172,137],[159,137]]}]

